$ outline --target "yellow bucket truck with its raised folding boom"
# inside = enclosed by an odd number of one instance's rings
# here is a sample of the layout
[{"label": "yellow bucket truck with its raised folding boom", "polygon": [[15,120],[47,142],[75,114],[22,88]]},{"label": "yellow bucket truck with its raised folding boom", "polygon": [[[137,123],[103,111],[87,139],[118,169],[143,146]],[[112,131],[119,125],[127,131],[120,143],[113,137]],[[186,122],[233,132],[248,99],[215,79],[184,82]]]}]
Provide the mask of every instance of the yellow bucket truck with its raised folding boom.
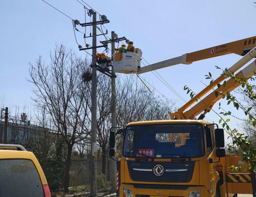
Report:
[{"label": "yellow bucket truck with its raised folding boom", "polygon": [[[256,57],[255,39],[246,38],[184,54],[138,68],[136,72],[140,74],[175,64],[191,64],[229,53],[243,56],[228,69],[236,72]],[[247,45],[249,41],[250,45]],[[253,61],[237,75],[249,78],[255,71],[256,62]],[[255,191],[255,184],[252,184],[255,183],[254,173],[232,173],[229,170],[232,165],[247,164],[235,154],[225,154],[224,130],[203,120],[222,96],[216,96],[212,91],[202,97],[224,79],[220,76],[177,112],[170,113],[171,120],[131,122],[117,132],[110,132],[109,154],[112,158],[116,156],[115,137],[123,135],[122,157],[117,160],[117,197],[235,197]],[[216,87],[216,91],[225,94],[237,86],[239,84],[229,79],[225,87]],[[199,102],[186,111],[197,101],[196,98]]]}]

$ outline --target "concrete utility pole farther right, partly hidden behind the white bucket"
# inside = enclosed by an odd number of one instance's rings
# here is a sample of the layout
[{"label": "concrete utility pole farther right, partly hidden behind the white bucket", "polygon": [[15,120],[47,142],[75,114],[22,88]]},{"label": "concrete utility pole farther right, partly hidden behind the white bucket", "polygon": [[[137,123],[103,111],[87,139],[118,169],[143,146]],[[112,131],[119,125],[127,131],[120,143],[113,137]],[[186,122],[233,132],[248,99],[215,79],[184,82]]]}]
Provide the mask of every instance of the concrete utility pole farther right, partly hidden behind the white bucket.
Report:
[{"label": "concrete utility pole farther right, partly hidden behind the white bucket", "polygon": [[[115,52],[115,42],[114,42],[114,34],[115,32],[111,32],[111,51],[112,51],[112,59],[113,54]],[[113,67],[112,67],[112,75],[115,75]],[[112,77],[111,78],[111,88],[112,88],[112,93],[111,93],[111,102],[112,102],[112,113],[111,113],[111,126],[116,126],[116,78]],[[113,128],[116,130],[115,128]],[[109,167],[109,177],[111,181],[111,191],[116,192],[116,161],[110,160],[110,167]]]}]

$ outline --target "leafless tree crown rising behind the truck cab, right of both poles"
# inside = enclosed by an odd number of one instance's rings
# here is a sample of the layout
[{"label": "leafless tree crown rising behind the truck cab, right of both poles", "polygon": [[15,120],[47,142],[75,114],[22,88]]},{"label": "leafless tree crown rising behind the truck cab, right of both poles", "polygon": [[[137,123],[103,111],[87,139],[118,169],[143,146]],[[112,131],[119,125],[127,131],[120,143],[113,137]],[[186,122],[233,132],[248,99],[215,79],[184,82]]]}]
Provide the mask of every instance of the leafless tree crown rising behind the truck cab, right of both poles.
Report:
[{"label": "leafless tree crown rising behind the truck cab, right of both poles", "polygon": [[[129,122],[170,119],[175,101],[166,100],[147,90],[135,77],[124,77],[117,86],[117,124],[125,126]],[[117,136],[117,154],[120,156],[123,136]]]}]

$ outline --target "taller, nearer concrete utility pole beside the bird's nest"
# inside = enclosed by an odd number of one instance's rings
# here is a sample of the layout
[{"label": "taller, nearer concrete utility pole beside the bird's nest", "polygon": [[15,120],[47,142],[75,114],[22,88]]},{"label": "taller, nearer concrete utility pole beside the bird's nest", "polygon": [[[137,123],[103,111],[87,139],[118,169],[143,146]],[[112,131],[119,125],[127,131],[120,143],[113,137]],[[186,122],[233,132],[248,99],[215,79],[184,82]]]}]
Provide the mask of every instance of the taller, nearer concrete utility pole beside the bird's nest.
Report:
[{"label": "taller, nearer concrete utility pole beside the bird's nest", "polygon": [[91,143],[91,184],[90,196],[96,196],[97,191],[97,59],[96,59],[96,12],[93,13],[93,42],[92,42],[92,143]]}]

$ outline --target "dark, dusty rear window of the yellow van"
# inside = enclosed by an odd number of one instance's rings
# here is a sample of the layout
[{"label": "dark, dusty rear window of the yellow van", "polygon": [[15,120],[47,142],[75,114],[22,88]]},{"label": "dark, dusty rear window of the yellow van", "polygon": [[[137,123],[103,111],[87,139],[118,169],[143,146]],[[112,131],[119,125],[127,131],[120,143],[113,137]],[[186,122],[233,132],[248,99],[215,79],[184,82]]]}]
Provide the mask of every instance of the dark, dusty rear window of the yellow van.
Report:
[{"label": "dark, dusty rear window of the yellow van", "polygon": [[0,174],[0,196],[44,196],[40,177],[30,160],[0,160]]}]

